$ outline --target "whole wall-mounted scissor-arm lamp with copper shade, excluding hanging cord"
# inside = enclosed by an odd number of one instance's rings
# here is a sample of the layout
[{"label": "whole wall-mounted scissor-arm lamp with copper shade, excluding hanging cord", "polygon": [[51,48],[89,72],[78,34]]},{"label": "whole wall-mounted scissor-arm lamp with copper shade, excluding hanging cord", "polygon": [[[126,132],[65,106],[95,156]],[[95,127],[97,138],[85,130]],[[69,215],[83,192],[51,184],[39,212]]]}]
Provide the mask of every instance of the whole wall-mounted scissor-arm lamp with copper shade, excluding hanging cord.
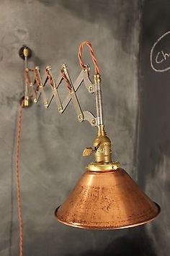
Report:
[{"label": "whole wall-mounted scissor-arm lamp with copper shade, excluding hanging cord", "polygon": [[[89,77],[89,65],[82,61],[82,49],[85,45],[89,47],[94,63],[94,82],[91,82]],[[76,187],[66,201],[55,210],[58,221],[85,229],[122,229],[138,226],[156,218],[160,207],[140,190],[133,179],[120,168],[119,162],[112,161],[111,141],[107,137],[103,122],[101,75],[91,43],[85,41],[79,47],[82,69],[75,82],[71,81],[66,64],[59,69],[56,80],[53,78],[51,68],[46,67],[45,81],[42,82],[39,67],[28,67],[30,48],[23,47],[20,55],[24,59],[23,107],[30,106],[31,101],[37,103],[42,97],[45,108],[55,100],[59,113],[63,114],[72,101],[78,120],[89,121],[92,127],[97,127],[97,137],[93,145],[91,148],[85,148],[83,152],[84,156],[93,153],[94,162],[86,166],[86,171]],[[68,95],[63,101],[58,93],[62,82],[65,82],[68,88]],[[89,93],[95,95],[96,116],[81,109],[76,92],[83,84]],[[52,90],[49,99],[45,93],[45,85],[50,85]]]}]

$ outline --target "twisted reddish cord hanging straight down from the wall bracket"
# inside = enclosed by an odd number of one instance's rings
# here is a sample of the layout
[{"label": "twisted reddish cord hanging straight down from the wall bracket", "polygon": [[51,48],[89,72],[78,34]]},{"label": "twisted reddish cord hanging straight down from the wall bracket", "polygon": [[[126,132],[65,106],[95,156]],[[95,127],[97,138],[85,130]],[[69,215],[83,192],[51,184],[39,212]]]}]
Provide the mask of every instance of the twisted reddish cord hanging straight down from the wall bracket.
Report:
[{"label": "twisted reddish cord hanging straight down from the wall bracket", "polygon": [[23,256],[23,223],[22,223],[22,207],[21,207],[21,189],[19,184],[19,145],[22,127],[22,110],[24,101],[22,101],[18,112],[17,119],[17,140],[16,140],[16,184],[17,184],[17,208],[18,208],[18,221],[19,221],[19,256]]}]

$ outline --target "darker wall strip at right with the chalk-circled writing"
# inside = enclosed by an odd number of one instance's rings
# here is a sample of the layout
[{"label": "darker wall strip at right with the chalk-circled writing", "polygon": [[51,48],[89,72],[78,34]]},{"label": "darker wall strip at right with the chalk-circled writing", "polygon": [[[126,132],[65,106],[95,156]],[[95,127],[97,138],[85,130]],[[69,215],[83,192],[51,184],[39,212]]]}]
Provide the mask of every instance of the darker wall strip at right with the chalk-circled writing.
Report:
[{"label": "darker wall strip at right with the chalk-circled writing", "polygon": [[[144,2],[140,45],[138,181],[161,205],[161,216],[146,226],[146,234],[152,241],[151,255],[158,256],[170,253],[170,76],[169,71],[160,73],[151,68],[150,53],[153,43],[170,30],[169,13],[169,1]],[[170,52],[169,37],[166,38],[165,43],[160,42],[157,52]],[[169,67],[168,61],[162,63],[164,67]]]}]

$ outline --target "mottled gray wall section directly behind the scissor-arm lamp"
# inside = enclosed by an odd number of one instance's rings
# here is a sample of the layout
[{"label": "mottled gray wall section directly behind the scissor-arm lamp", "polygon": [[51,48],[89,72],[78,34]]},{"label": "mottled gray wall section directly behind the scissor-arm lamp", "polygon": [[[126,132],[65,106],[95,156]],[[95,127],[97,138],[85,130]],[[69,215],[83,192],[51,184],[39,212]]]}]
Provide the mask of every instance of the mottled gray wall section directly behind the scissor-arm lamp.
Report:
[{"label": "mottled gray wall section directly behind the scissor-arm lamp", "polygon": [[[66,62],[74,80],[81,70],[79,43],[91,40],[102,69],[104,119],[115,159],[136,178],[140,8],[136,0],[2,0],[0,9],[0,255],[14,256],[18,255],[14,140],[23,93],[19,48],[27,44],[34,51],[30,66],[44,69],[50,64],[55,74]],[[84,59],[91,64],[86,53]],[[94,110],[94,98],[84,90],[79,99]],[[133,229],[73,229],[53,216],[91,161],[81,152],[95,135],[89,124],[79,124],[72,106],[63,116],[55,104],[48,110],[40,103],[24,110],[19,166],[25,256],[136,255],[138,247],[143,247],[142,240],[133,238]]]}]

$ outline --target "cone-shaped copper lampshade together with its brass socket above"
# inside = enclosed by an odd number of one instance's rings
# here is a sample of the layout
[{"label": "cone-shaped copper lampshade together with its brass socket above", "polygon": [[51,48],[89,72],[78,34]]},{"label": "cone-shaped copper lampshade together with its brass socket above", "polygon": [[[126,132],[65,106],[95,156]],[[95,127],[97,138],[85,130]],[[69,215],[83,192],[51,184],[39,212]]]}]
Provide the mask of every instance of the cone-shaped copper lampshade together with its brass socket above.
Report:
[{"label": "cone-shaped copper lampshade together with its brass socket above", "polygon": [[[123,229],[147,223],[158,216],[160,207],[118,162],[112,162],[110,148],[104,127],[98,127],[94,140],[96,161],[86,167],[66,201],[55,210],[58,221],[83,229]],[[90,148],[86,152],[90,152]]]}]

